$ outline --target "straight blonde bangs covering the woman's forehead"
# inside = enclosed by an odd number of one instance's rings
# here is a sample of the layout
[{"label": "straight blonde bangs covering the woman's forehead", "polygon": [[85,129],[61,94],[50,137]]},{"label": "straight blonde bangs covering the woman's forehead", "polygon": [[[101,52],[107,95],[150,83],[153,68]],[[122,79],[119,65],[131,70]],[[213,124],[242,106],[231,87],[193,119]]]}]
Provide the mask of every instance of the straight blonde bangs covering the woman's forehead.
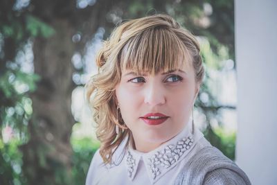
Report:
[{"label": "straight blonde bangs covering the woman's forehead", "polygon": [[181,39],[171,30],[155,27],[131,37],[120,54],[120,68],[136,73],[175,71],[190,65],[191,57]]}]

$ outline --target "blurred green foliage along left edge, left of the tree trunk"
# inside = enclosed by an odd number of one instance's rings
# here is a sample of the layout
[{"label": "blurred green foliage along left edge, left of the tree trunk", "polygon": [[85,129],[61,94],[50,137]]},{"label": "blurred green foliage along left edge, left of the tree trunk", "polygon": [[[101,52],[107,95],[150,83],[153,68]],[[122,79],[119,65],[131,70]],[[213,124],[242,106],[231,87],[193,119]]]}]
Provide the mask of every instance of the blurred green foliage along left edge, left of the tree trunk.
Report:
[{"label": "blurred green foliage along left edge, left of the tree trunk", "polygon": [[[24,55],[24,46],[30,37],[49,37],[54,30],[31,15],[25,17],[24,25],[13,13],[5,15],[7,21],[0,21],[0,184],[19,185],[27,184],[19,148],[28,142],[28,123],[33,115],[30,94],[36,90],[40,78],[21,70],[17,53]],[[15,51],[6,51],[5,44]],[[3,135],[7,133],[10,135]]]}]

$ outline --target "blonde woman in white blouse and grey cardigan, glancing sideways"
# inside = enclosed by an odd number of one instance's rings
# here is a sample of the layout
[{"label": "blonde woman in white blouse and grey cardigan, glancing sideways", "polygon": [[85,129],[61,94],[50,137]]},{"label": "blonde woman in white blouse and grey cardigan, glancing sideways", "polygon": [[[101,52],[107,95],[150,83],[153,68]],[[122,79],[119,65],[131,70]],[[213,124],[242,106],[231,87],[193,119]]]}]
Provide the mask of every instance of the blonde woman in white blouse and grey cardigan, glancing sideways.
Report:
[{"label": "blonde woman in white blouse and grey cardigan, glancing sideways", "polygon": [[195,128],[204,77],[195,37],[168,15],[118,26],[87,83],[100,149],[91,184],[251,184]]}]

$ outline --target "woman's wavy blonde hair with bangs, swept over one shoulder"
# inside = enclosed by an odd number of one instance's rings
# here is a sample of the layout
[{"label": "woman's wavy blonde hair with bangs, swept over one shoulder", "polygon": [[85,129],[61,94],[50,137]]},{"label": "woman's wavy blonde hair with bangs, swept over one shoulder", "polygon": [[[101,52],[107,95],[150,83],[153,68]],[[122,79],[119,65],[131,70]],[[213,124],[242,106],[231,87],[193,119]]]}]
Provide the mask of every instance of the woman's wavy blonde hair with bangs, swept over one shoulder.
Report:
[{"label": "woman's wavy blonde hair with bangs, swept over one shoulder", "polygon": [[151,15],[120,24],[104,42],[96,64],[98,74],[91,77],[85,88],[105,164],[111,163],[112,155],[126,136],[127,143],[133,142],[129,129],[116,134],[116,124],[125,127],[115,95],[123,69],[154,75],[174,71],[180,64],[193,64],[195,81],[201,85],[204,77],[197,40],[168,15]]}]

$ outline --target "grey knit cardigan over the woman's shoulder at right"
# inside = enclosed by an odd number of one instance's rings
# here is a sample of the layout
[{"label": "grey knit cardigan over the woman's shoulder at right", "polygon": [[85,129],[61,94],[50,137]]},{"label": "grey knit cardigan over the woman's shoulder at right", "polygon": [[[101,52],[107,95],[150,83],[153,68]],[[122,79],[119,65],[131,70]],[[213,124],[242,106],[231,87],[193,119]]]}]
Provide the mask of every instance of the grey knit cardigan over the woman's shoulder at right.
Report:
[{"label": "grey knit cardigan over the woman's shoulder at right", "polygon": [[247,175],[213,146],[200,149],[181,170],[175,185],[251,185]]}]

